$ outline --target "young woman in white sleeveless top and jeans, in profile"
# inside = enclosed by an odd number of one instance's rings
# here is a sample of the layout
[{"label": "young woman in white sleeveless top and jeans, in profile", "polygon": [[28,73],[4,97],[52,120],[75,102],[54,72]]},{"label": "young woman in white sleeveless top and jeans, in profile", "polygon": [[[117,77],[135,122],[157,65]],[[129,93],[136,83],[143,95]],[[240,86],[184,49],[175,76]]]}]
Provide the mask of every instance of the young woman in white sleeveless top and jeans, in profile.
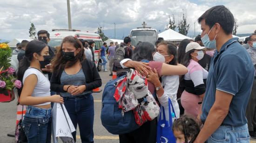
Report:
[{"label": "young woman in white sleeveless top and jeans, in profile", "polygon": [[40,69],[48,56],[49,49],[44,42],[30,41],[17,73],[23,83],[19,103],[28,105],[22,121],[28,143],[51,142],[51,126],[48,126],[51,122],[51,102],[63,103],[60,95],[51,96],[50,82]]}]

